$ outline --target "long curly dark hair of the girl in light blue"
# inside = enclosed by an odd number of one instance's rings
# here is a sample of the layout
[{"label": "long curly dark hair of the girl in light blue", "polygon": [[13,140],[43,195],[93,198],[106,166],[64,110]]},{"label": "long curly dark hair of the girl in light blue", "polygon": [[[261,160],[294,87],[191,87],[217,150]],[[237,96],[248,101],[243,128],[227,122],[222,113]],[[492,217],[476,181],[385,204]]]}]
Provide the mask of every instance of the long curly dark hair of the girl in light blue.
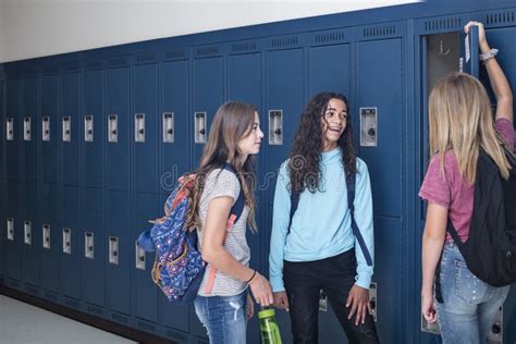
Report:
[{"label": "long curly dark hair of the girl in light blue", "polygon": [[[320,191],[319,180],[321,171],[319,162],[324,146],[324,133],[322,132],[321,121],[330,99],[344,101],[349,111],[349,103],[346,97],[337,93],[323,91],[317,94],[307,103],[300,115],[287,165],[291,179],[290,186],[293,192],[300,194],[305,189],[308,189],[310,193]],[[342,164],[346,171],[346,177],[356,174],[356,156],[353,146],[351,115],[347,118],[346,128],[339,138],[337,146],[342,150]]]}]

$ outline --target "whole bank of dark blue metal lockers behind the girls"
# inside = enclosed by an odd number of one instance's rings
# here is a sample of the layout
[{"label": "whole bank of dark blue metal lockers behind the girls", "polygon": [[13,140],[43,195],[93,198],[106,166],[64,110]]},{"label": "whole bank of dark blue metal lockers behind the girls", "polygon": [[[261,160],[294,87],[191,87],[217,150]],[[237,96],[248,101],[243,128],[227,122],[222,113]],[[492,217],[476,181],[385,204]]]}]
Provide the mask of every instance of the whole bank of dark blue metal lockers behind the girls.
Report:
[{"label": "whole bank of dark blue metal lockers behind the girls", "polygon": [[[503,47],[500,61],[516,86],[515,10],[500,3],[455,13],[435,7],[442,16],[422,17],[427,11],[416,20],[426,4],[406,5],[3,65],[0,278],[177,342],[206,341],[193,309],[169,304],[152,284],[153,257],[140,254],[135,239],[161,216],[175,176],[195,168],[217,108],[247,101],[258,106],[266,133],[257,157],[259,233],[248,239],[253,267],[267,274],[277,170],[307,99],[331,89],[349,99],[356,148],[371,177],[380,337],[435,342],[420,331],[418,305],[417,189],[427,159],[428,79],[437,73],[427,60],[435,60],[434,42],[447,34],[457,40],[467,21],[480,20],[490,42]],[[373,144],[360,136],[371,113]],[[505,329],[516,321],[513,308],[505,308]],[[287,316],[279,318],[288,342]],[[248,332],[257,342],[256,320]],[[324,310],[320,333],[321,342],[345,342]],[[505,331],[504,339],[514,335]]]}]

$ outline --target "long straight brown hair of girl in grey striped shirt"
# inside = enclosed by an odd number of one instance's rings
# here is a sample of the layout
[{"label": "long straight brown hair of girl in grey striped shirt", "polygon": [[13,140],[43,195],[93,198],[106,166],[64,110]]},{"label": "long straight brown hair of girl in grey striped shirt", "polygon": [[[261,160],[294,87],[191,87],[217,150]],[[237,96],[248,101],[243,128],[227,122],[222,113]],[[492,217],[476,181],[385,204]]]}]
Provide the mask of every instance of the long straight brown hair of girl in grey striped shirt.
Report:
[{"label": "long straight brown hair of girl in grey striped shirt", "polygon": [[200,164],[196,170],[195,187],[192,193],[192,207],[189,207],[186,225],[193,230],[200,229],[199,201],[205,189],[206,176],[214,169],[222,168],[229,162],[236,171],[243,187],[245,204],[249,207],[247,224],[256,231],[255,198],[253,195],[254,157],[243,159],[238,151],[237,143],[249,135],[255,124],[257,109],[253,105],[239,101],[228,101],[222,105],[211,123],[208,143],[202,151]]}]

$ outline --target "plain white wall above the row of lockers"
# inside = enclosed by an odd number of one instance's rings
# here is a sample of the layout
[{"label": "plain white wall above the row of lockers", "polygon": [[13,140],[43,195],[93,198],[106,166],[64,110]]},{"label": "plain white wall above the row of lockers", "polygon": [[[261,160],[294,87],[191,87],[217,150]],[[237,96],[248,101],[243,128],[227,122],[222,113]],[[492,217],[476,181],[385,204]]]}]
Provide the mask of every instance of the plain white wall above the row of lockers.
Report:
[{"label": "plain white wall above the row of lockers", "polygon": [[0,62],[415,0],[0,0]]}]

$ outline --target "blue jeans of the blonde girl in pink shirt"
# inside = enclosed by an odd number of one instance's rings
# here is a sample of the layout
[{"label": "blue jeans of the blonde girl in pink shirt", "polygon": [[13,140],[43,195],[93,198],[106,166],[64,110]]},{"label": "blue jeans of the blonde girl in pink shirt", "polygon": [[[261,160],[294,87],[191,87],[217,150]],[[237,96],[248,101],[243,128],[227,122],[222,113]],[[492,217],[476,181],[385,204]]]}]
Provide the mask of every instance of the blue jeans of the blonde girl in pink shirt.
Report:
[{"label": "blue jeans of the blonde girl in pink shirt", "polygon": [[511,286],[494,287],[479,280],[453,243],[444,245],[440,278],[443,303],[435,303],[435,308],[443,343],[487,343]]}]

